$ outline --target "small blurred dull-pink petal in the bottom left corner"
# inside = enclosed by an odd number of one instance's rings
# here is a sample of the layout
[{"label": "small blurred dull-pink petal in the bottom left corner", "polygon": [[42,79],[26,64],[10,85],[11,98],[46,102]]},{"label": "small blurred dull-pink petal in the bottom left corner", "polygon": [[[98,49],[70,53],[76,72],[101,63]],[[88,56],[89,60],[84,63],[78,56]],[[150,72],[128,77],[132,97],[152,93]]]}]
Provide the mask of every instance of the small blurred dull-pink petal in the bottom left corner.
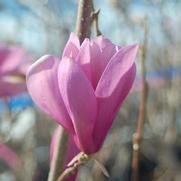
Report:
[{"label": "small blurred dull-pink petal in the bottom left corner", "polygon": [[20,166],[20,159],[16,153],[3,143],[0,144],[0,159],[12,169],[16,169],[17,166]]}]

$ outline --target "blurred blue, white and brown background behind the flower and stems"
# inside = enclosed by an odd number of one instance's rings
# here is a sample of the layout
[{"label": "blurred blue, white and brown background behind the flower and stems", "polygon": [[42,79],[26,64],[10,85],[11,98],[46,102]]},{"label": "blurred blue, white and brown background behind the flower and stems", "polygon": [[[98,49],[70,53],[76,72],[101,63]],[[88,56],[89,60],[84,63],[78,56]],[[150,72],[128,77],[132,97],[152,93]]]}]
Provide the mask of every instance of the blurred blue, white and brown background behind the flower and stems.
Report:
[{"label": "blurred blue, white and brown background behind the flower and stems", "polygon": [[[76,0],[0,0],[0,48],[2,45],[11,54],[18,47],[26,63],[44,54],[60,56],[69,33],[75,31],[77,4]],[[145,47],[145,58],[140,48],[135,84],[98,153],[110,178],[91,161],[80,169],[78,180],[130,180],[144,58],[148,97],[140,180],[180,181],[181,1],[96,0],[94,4],[101,9],[102,34],[119,45],[139,43]],[[19,75],[25,84],[25,73],[18,71]],[[25,88],[16,94],[11,91],[7,93],[0,84],[0,180],[45,181],[51,136],[57,125],[34,105]]]}]

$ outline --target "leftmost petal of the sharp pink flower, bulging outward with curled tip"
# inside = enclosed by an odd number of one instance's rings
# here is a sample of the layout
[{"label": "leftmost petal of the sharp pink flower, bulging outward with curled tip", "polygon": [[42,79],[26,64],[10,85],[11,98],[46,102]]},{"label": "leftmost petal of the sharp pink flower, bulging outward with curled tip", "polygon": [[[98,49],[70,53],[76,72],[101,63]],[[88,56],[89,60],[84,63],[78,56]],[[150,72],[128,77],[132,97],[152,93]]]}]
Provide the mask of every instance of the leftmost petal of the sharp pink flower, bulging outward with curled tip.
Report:
[{"label": "leftmost petal of the sharp pink flower, bulging outward with curled tip", "polygon": [[57,69],[60,60],[46,55],[37,60],[27,73],[28,91],[35,103],[71,133],[72,121],[59,93]]}]

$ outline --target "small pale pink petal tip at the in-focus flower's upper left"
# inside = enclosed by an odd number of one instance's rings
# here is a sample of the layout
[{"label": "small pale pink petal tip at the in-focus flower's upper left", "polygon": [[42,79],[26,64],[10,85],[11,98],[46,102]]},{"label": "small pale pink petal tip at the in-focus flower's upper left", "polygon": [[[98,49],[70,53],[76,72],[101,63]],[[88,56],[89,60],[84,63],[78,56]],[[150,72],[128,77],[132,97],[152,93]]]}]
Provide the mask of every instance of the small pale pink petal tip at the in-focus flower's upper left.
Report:
[{"label": "small pale pink petal tip at the in-focus flower's upper left", "polygon": [[78,37],[71,33],[67,44],[65,45],[62,57],[69,57],[75,59],[79,53],[80,42]]}]

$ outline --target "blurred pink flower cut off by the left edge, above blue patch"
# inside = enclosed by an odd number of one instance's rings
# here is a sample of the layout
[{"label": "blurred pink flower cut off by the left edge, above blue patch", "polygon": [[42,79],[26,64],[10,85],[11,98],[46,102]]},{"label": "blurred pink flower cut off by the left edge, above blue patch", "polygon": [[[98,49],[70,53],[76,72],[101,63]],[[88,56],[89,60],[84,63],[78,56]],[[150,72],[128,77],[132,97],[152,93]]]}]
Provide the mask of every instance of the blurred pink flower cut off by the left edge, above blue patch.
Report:
[{"label": "blurred pink flower cut off by the left edge, above blue patch", "polygon": [[26,91],[25,74],[31,59],[20,47],[0,45],[0,97]]}]

